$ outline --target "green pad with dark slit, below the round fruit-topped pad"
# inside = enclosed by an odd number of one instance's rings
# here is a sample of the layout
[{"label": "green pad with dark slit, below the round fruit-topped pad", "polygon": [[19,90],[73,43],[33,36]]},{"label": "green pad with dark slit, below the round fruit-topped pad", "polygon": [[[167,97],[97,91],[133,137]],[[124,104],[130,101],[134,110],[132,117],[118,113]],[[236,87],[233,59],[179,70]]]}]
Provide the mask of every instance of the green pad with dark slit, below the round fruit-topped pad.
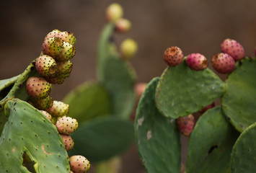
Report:
[{"label": "green pad with dark slit, below the round fruit-topped pad", "polygon": [[206,111],[190,135],[187,148],[189,173],[230,172],[230,154],[239,133],[226,120],[221,107]]}]

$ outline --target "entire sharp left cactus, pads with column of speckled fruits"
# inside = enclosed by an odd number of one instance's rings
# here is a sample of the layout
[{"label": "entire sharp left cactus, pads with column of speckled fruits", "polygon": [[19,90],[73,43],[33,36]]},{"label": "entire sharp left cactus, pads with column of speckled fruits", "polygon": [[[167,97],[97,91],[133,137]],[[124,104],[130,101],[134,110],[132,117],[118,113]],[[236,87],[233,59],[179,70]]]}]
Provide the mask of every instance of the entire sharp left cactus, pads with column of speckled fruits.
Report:
[{"label": "entire sharp left cactus, pads with column of speckled fruits", "polygon": [[23,74],[0,81],[0,146],[5,148],[0,172],[89,171],[84,156],[69,158],[66,152],[78,128],[76,119],[67,116],[69,105],[49,96],[52,84],[62,84],[71,73],[74,43],[71,32],[49,32],[40,56]]}]

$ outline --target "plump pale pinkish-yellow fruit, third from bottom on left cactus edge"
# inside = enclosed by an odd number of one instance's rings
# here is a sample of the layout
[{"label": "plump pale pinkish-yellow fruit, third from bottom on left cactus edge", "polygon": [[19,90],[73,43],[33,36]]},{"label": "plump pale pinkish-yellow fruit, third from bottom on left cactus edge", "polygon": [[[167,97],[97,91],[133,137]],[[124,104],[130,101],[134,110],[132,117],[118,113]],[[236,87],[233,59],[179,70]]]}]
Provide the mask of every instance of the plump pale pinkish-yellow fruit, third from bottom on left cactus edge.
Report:
[{"label": "plump pale pinkish-yellow fruit, third from bottom on left cactus edge", "polygon": [[78,128],[77,120],[72,117],[59,117],[56,122],[56,127],[58,129],[58,133],[69,135],[70,133],[74,133],[74,131]]}]

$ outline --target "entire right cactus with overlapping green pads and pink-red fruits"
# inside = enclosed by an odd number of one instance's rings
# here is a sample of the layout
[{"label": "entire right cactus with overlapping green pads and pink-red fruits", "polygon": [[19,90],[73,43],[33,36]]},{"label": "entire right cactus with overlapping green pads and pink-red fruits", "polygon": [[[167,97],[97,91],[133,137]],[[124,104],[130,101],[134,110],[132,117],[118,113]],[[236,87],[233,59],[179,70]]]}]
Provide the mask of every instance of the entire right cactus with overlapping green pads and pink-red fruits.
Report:
[{"label": "entire right cactus with overlapping green pads and pink-red fruits", "polygon": [[227,74],[225,81],[200,53],[184,56],[173,46],[164,61],[169,66],[149,82],[136,111],[136,145],[146,171],[184,172],[182,134],[189,137],[187,173],[255,172],[256,58],[244,56],[236,40],[224,40],[211,64]]}]

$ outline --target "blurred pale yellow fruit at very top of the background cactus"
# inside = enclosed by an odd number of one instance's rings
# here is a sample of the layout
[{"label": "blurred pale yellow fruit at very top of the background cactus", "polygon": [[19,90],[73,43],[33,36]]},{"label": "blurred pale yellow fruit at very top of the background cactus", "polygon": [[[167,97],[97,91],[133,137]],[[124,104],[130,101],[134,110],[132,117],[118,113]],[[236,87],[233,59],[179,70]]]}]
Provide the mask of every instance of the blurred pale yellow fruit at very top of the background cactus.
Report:
[{"label": "blurred pale yellow fruit at very top of the background cactus", "polygon": [[106,19],[109,22],[115,21],[123,17],[123,8],[120,4],[113,3],[107,7]]}]

